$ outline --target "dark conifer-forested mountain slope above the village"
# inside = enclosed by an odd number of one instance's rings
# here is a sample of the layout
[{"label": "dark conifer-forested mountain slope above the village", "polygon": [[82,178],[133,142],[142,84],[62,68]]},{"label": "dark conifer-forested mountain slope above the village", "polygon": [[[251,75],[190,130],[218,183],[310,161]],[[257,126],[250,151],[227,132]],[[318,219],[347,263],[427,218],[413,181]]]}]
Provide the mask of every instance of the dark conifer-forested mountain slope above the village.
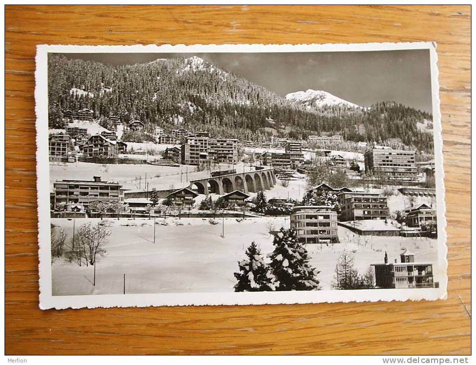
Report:
[{"label": "dark conifer-forested mountain slope above the village", "polygon": [[256,141],[271,133],[291,138],[339,133],[378,143],[401,138],[410,147],[433,149],[432,133],[419,127],[432,119],[428,113],[394,102],[309,107],[196,56],[111,66],[50,55],[48,102],[50,127],[62,125],[61,110],[86,107],[95,118],[139,119],[150,130],[180,125]]}]

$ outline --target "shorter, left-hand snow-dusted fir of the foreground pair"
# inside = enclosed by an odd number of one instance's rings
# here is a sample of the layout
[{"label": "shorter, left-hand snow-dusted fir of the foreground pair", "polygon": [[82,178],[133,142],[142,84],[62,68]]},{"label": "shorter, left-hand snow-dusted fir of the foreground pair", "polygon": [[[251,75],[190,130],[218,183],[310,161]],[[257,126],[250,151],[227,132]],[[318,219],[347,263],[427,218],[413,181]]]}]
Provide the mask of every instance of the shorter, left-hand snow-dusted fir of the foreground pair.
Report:
[{"label": "shorter, left-hand snow-dusted fir of the foreground pair", "polygon": [[275,278],[255,242],[246,249],[246,256],[247,259],[238,262],[240,271],[234,273],[238,280],[235,291],[276,290]]}]

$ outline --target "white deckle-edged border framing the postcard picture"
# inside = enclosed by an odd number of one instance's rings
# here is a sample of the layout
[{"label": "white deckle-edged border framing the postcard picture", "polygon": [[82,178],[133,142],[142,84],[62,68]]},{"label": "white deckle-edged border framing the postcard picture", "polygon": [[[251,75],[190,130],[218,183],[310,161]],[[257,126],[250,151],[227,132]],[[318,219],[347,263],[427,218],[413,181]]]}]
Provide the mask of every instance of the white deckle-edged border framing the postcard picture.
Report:
[{"label": "white deckle-edged border framing the postcard picture", "polygon": [[[101,294],[101,295],[61,295],[53,296],[51,287],[50,253],[50,211],[49,211],[49,161],[48,161],[48,100],[47,100],[47,54],[48,52],[326,52],[326,51],[375,51],[429,49],[431,57],[433,125],[435,149],[435,176],[438,217],[438,267],[445,270],[438,288],[419,289],[359,289],[359,290],[313,290],[313,291],[265,291],[265,292],[199,292],[199,293],[157,293],[157,294]],[[349,43],[349,44],[194,44],[194,45],[47,45],[37,46],[35,69],[35,111],[36,111],[36,174],[38,203],[38,256],[39,256],[39,307],[81,308],[81,307],[126,307],[161,305],[246,305],[281,303],[320,302],[363,302],[363,301],[405,301],[436,300],[447,297],[448,276],[446,275],[446,205],[443,170],[443,138],[440,112],[438,56],[434,42],[408,43]]]}]

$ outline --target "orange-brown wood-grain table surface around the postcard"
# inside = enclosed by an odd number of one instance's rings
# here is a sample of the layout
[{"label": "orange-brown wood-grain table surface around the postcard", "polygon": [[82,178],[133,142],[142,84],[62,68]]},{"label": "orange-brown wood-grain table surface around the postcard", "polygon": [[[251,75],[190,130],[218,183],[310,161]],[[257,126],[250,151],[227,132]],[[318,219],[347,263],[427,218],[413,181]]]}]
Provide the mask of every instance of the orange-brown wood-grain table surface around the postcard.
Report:
[{"label": "orange-brown wood-grain table surface around the postcard", "polygon": [[[6,354],[469,354],[470,6],[5,8]],[[448,299],[263,306],[38,308],[36,44],[436,41]]]}]

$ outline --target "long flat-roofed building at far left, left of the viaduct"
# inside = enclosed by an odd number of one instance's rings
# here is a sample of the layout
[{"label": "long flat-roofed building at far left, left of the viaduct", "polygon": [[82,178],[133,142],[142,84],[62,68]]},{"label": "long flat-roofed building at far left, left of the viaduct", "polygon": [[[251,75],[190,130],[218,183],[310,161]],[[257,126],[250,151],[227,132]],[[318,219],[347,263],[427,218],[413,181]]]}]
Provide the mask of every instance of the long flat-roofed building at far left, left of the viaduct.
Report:
[{"label": "long flat-roofed building at far left, left of the viaduct", "polygon": [[[84,207],[91,201],[124,202],[124,191],[118,182],[101,181],[101,176],[91,180],[57,180],[53,183],[54,206],[79,204]],[[66,208],[66,210],[68,210]]]}]

